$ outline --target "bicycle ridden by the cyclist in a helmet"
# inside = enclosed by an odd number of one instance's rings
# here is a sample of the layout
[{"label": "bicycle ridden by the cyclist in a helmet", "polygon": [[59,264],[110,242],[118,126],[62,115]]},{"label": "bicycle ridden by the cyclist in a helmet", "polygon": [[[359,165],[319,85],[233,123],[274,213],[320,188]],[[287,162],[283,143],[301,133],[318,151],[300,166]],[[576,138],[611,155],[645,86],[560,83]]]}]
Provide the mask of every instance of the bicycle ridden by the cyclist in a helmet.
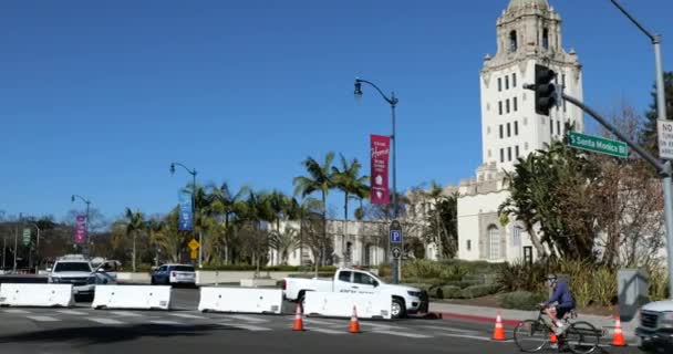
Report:
[{"label": "bicycle ridden by the cyclist in a helmet", "polygon": [[[552,332],[543,316],[545,312],[541,309],[537,320],[524,320],[514,329],[514,342],[522,352],[539,352],[550,344]],[[561,352],[567,347],[574,354],[593,353],[599,347],[602,332],[589,322],[570,321],[576,317],[574,310],[563,316],[569,326],[557,337],[558,351]]]}]

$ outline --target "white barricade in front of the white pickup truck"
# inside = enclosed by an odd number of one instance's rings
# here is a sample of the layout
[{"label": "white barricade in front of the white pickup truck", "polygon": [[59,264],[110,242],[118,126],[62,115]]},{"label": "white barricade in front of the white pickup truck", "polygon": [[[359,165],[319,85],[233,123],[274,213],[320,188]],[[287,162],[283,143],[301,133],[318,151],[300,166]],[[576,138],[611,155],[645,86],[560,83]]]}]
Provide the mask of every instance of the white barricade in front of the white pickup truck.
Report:
[{"label": "white barricade in front of the white pickup truck", "polygon": [[340,292],[308,291],[303,313],[334,317],[350,317],[353,306],[359,319],[391,319],[393,304],[390,294],[352,294]]}]

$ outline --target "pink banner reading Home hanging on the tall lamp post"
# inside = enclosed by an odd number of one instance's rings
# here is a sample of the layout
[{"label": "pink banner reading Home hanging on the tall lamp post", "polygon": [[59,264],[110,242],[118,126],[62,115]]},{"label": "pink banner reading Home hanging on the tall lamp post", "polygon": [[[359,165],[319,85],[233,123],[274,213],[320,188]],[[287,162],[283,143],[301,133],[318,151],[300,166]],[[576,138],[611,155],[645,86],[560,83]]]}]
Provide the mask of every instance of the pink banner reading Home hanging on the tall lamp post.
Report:
[{"label": "pink banner reading Home hanging on the tall lamp post", "polygon": [[372,173],[370,199],[372,204],[390,204],[387,188],[387,163],[390,160],[390,136],[372,135]]}]

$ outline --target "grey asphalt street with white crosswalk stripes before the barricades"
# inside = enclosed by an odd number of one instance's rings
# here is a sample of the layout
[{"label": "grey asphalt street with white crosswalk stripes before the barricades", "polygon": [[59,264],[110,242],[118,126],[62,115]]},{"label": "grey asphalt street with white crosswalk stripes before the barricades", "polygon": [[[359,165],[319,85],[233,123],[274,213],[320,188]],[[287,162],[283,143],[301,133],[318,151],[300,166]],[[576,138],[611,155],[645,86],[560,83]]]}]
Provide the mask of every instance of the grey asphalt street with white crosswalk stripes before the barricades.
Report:
[{"label": "grey asphalt street with white crosswalk stripes before the barricades", "polygon": [[[291,331],[288,314],[221,314],[196,311],[198,290],[175,289],[174,311],[0,309],[1,353],[519,353],[511,343],[491,342],[493,324],[456,320],[361,321],[348,333],[348,319],[304,321]],[[508,329],[507,336],[511,337]],[[604,353],[638,353],[604,347]]]}]

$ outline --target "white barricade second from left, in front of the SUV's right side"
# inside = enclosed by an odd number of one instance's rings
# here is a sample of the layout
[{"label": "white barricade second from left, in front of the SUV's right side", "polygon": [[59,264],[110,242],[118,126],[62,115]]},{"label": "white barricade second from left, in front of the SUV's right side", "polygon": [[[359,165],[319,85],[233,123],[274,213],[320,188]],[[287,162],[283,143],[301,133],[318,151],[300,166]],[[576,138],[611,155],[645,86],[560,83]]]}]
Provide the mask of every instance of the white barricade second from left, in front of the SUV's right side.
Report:
[{"label": "white barricade second from left, in front of the SUV's right side", "polygon": [[170,285],[96,285],[93,309],[170,309]]}]

